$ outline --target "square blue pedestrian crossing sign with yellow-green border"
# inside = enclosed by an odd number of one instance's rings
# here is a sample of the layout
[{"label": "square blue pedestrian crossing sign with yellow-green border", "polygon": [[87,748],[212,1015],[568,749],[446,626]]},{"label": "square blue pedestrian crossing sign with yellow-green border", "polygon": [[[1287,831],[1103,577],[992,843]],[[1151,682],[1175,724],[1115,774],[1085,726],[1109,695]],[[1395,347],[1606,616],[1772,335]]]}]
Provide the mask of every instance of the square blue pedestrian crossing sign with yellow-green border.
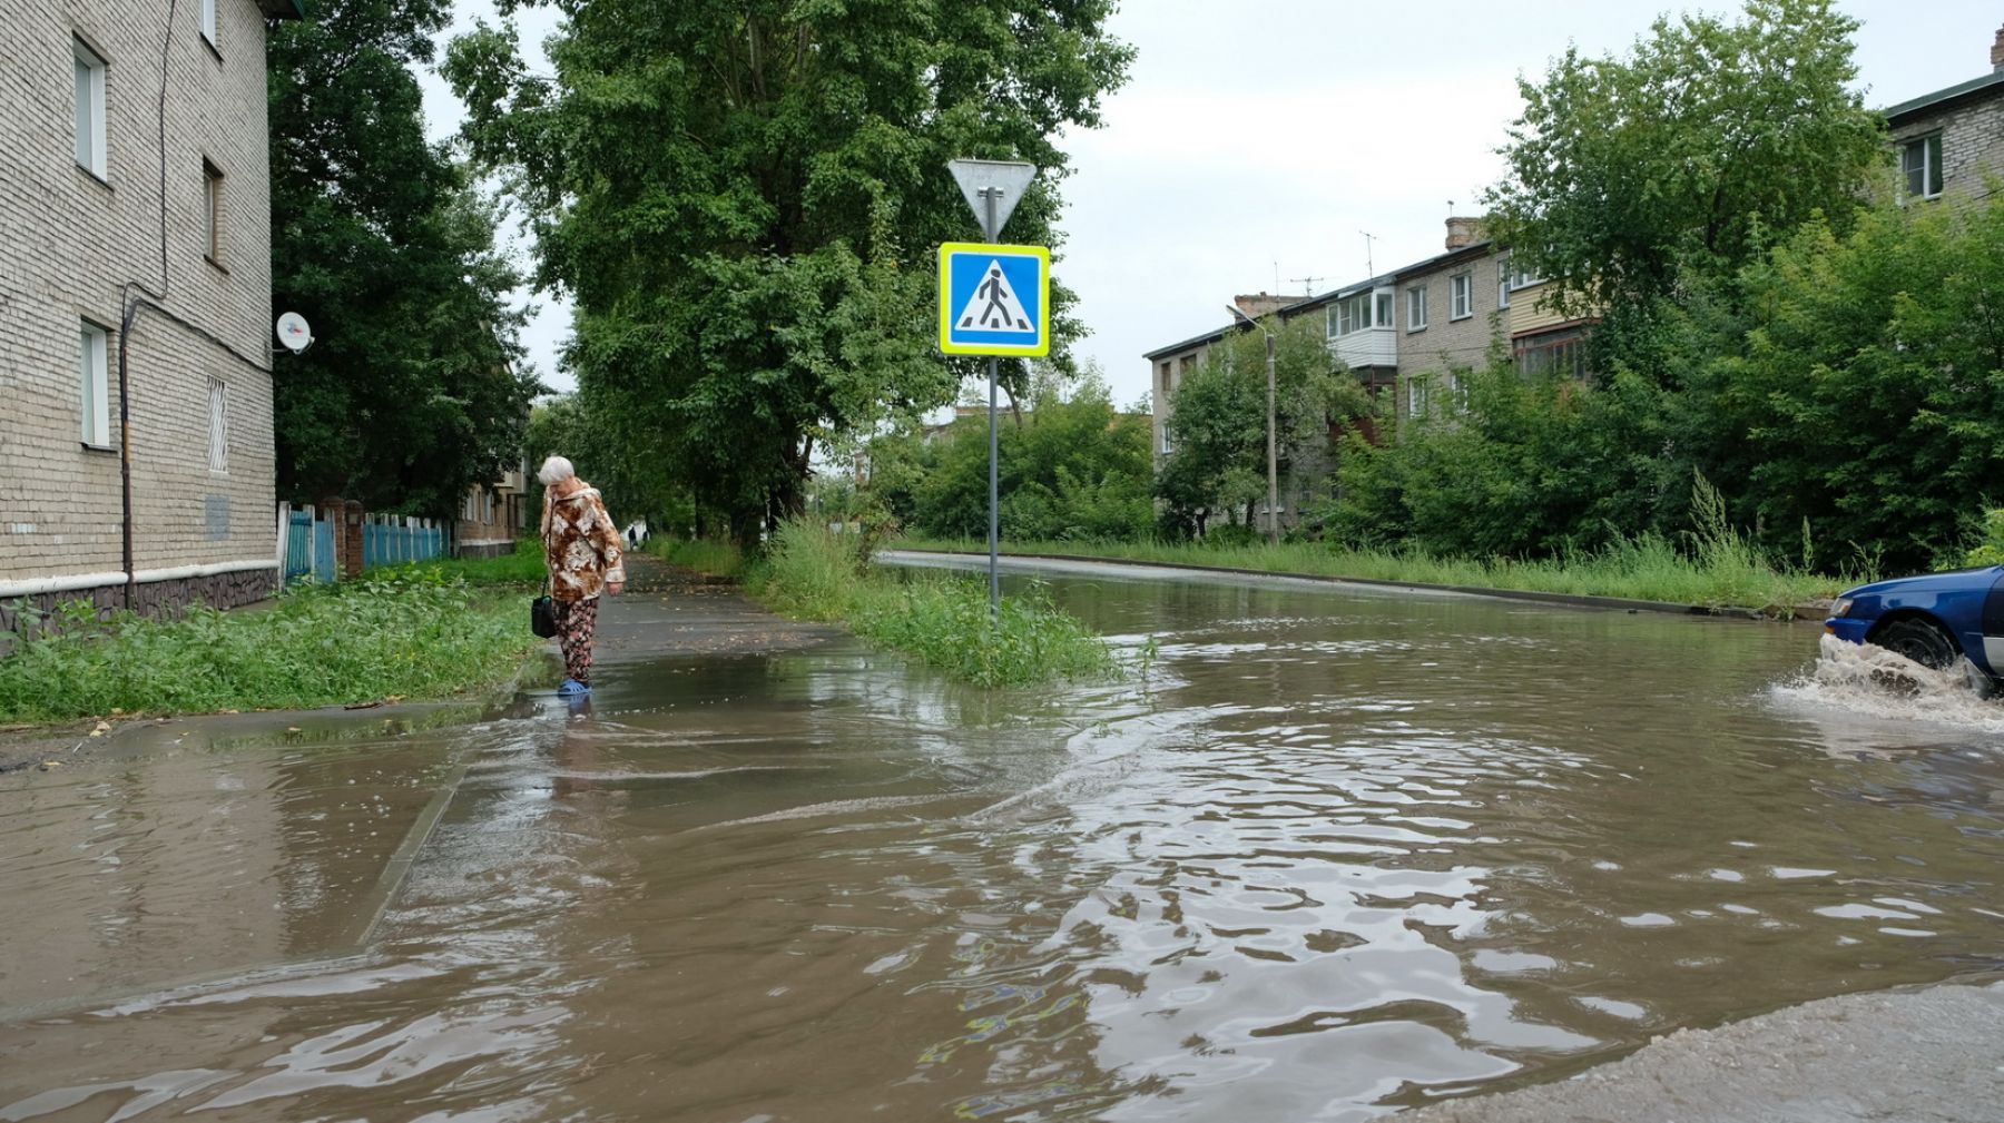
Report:
[{"label": "square blue pedestrian crossing sign with yellow-green border", "polygon": [[940,246],[940,350],[1050,354],[1050,248]]}]

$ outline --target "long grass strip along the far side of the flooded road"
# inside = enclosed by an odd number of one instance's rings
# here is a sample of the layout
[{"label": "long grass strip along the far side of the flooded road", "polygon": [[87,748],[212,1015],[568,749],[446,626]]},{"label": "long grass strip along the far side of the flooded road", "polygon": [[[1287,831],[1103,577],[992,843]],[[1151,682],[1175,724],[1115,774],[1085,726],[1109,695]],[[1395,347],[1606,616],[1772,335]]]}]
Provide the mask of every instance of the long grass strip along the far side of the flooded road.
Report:
[{"label": "long grass strip along the far side of the flooded road", "polygon": [[[902,538],[896,546],[988,552],[988,542],[974,538]],[[1796,607],[1826,601],[1840,589],[1856,585],[1852,579],[1778,571],[1733,536],[1707,538],[1697,542],[1693,552],[1683,552],[1669,540],[1651,534],[1591,554],[1529,563],[1437,558],[1419,550],[1343,550],[1321,542],[1208,546],[1204,542],[1064,540],[1006,542],[1004,552],[1208,565],[1277,575],[1411,581],[1575,597],[1625,597],[1713,609],[1762,609],[1780,617],[1792,617]]]}]

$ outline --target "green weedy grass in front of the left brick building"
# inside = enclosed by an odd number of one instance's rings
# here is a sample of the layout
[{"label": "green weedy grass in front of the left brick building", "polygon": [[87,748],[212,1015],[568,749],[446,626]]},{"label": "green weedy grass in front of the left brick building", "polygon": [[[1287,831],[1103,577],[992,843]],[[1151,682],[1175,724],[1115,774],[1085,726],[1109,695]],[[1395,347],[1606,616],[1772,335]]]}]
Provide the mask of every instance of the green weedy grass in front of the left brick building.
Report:
[{"label": "green weedy grass in front of the left brick building", "polygon": [[509,681],[541,645],[519,599],[437,565],[289,591],[261,611],[98,623],[72,607],[0,661],[0,721],[443,699]]}]

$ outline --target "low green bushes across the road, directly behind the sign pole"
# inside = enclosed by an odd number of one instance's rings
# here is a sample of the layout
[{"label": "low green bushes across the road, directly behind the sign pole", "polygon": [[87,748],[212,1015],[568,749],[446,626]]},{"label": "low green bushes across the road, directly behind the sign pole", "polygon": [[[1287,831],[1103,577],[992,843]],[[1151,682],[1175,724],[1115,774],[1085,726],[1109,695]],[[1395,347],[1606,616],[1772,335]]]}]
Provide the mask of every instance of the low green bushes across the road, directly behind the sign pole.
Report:
[{"label": "low green bushes across the road, directly behind the sign pole", "polygon": [[[1132,538],[1148,532],[1150,418],[1116,412],[1104,380],[1032,386],[1020,420],[1002,414],[1000,518],[1008,538]],[[872,440],[870,488],[928,534],[988,534],[988,416],[964,416],[932,444]],[[902,488],[902,490],[900,490]]]}]

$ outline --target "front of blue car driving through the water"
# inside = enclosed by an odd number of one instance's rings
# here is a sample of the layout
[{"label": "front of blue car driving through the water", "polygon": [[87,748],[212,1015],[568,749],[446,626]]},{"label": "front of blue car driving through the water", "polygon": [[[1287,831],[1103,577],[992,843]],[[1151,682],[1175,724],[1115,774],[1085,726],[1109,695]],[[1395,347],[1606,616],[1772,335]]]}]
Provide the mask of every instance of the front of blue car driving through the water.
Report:
[{"label": "front of blue car driving through the water", "polygon": [[1936,671],[1968,659],[1994,689],[2004,671],[2004,565],[1860,585],[1830,605],[1824,631]]}]

